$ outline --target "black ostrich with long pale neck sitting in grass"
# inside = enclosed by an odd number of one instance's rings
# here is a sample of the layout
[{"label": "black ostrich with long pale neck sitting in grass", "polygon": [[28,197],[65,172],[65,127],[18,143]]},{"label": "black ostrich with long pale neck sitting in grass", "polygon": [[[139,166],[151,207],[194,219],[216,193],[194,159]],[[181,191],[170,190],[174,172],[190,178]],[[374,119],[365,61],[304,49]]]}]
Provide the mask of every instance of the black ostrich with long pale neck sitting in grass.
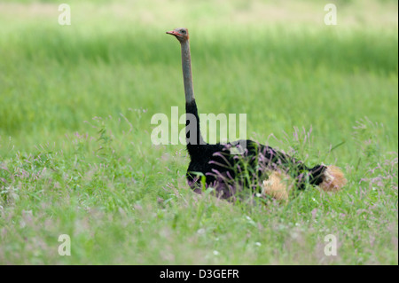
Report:
[{"label": "black ostrich with long pale neck sitting in grass", "polygon": [[[187,28],[168,31],[180,42],[184,78],[186,110],[186,142],[190,164],[186,178],[194,192],[201,193],[201,185],[215,189],[217,197],[235,200],[239,192],[248,187],[251,193],[269,195],[277,200],[287,200],[289,189],[300,190],[305,184],[318,185],[324,191],[336,192],[346,184],[346,179],[335,166],[307,167],[286,153],[252,140],[240,140],[225,145],[207,144],[200,133],[200,118],[192,84],[192,61]],[[241,154],[232,153],[238,145],[246,145]],[[204,178],[205,177],[205,178]],[[205,180],[204,180],[205,179]],[[289,185],[286,180],[290,180]]]}]

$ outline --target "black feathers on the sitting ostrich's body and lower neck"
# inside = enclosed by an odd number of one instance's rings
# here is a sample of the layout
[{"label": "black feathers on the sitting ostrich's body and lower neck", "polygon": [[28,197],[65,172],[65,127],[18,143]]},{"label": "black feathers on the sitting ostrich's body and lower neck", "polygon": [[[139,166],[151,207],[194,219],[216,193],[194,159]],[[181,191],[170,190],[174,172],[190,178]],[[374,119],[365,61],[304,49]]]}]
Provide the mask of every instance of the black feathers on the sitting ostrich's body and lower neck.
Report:
[{"label": "black feathers on the sitting ostrich's body and lower neck", "polygon": [[231,199],[238,190],[259,189],[268,170],[286,172],[296,180],[299,189],[304,188],[307,177],[312,185],[323,181],[324,165],[308,168],[303,162],[268,145],[246,140],[246,151],[239,155],[230,153],[236,143],[209,145],[200,134],[200,117],[195,100],[186,103],[186,114],[195,118],[195,121],[186,119],[187,151],[191,159],[186,177],[197,193],[201,190],[201,175],[206,177],[206,185],[214,187],[216,194],[223,199]]}]

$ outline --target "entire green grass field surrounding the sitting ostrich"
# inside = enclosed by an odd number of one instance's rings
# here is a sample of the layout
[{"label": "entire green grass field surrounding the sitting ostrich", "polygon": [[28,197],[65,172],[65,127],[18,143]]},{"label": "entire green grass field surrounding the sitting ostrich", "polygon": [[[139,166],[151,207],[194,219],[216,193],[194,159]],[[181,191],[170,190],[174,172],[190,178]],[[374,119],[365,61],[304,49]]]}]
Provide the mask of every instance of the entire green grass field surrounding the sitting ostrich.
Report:
[{"label": "entire green grass field surrounding the sitting ostrich", "polygon": [[[398,263],[397,2],[333,2],[336,26],[310,0],[67,3],[70,26],[56,1],[0,4],[0,264]],[[153,114],[184,114],[180,26],[200,113],[340,166],[342,192],[192,193],[184,145],[151,142]]]}]

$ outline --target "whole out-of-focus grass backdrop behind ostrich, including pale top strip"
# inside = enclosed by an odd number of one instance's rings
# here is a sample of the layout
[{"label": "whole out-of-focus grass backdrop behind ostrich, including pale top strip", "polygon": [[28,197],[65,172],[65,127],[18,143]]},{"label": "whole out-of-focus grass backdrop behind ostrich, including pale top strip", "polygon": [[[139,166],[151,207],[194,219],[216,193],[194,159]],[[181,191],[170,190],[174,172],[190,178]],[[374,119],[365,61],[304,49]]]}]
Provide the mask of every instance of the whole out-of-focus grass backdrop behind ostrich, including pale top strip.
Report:
[{"label": "whole out-of-focus grass backdrop behind ostrich, including pale top strip", "polygon": [[325,144],[368,116],[395,140],[397,17],[381,4],[339,3],[338,25],[325,26],[314,1],[72,1],[64,27],[57,4],[2,4],[1,136],[29,149],[93,116],[184,106],[179,49],[164,34],[184,25],[200,112],[246,113],[266,136],[312,125]]}]

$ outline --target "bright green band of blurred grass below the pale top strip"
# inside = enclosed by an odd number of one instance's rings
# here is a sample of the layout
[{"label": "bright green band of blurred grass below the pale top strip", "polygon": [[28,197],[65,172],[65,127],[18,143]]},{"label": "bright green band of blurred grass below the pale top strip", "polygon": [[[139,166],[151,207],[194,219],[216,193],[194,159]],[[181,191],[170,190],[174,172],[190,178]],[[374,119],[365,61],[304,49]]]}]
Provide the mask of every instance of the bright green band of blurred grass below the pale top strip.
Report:
[{"label": "bright green band of blurred grass below the pale top strip", "polygon": [[[40,30],[2,37],[2,52],[8,54],[1,76],[7,93],[1,98],[4,134],[81,130],[95,115],[118,115],[137,106],[151,116],[183,106],[178,46],[166,36],[160,42],[163,31],[128,34],[115,28],[72,36],[51,28],[37,35]],[[250,130],[265,134],[289,131],[301,126],[298,121],[317,132],[350,130],[364,115],[397,126],[395,109],[384,115],[397,102],[393,33],[281,35],[279,28],[254,33],[254,39],[242,41],[246,30],[223,34],[223,40],[192,32],[200,112],[248,113]],[[266,130],[256,127],[260,122]]]}]

